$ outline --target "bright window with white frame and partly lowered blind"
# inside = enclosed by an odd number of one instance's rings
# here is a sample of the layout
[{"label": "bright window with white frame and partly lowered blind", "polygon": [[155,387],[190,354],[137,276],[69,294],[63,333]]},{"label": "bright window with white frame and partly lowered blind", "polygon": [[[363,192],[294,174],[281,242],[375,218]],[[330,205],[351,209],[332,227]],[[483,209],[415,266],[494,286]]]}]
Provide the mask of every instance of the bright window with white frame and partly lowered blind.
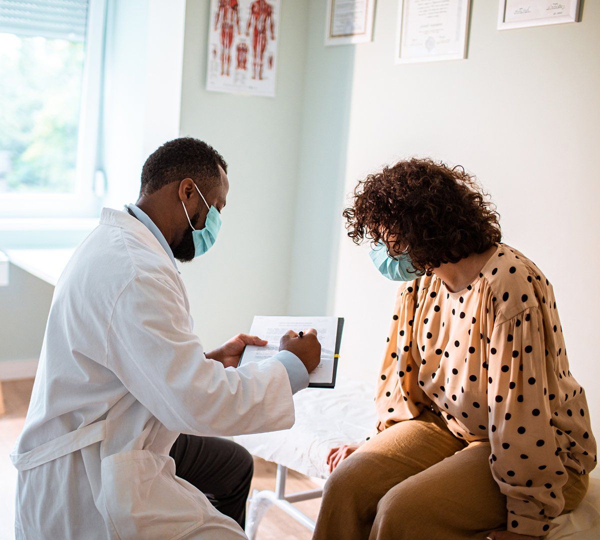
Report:
[{"label": "bright window with white frame and partly lowered blind", "polygon": [[0,214],[97,206],[104,0],[0,0]]}]

